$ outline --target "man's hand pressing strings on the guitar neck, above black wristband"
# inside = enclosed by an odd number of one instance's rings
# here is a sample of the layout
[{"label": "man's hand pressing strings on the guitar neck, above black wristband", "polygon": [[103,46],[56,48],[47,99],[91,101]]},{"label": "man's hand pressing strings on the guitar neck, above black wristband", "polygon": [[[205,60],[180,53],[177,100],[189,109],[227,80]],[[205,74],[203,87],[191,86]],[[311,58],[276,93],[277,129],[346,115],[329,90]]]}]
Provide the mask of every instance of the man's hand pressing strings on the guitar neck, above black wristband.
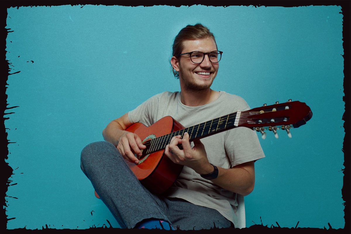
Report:
[{"label": "man's hand pressing strings on the guitar neck, above black wristband", "polygon": [[[213,166],[208,162],[205,147],[200,140],[194,140],[194,147],[191,148],[189,134],[173,136],[170,144],[165,148],[165,154],[174,163],[188,166],[199,174],[208,174],[213,171]],[[178,145],[182,145],[180,149]]]}]

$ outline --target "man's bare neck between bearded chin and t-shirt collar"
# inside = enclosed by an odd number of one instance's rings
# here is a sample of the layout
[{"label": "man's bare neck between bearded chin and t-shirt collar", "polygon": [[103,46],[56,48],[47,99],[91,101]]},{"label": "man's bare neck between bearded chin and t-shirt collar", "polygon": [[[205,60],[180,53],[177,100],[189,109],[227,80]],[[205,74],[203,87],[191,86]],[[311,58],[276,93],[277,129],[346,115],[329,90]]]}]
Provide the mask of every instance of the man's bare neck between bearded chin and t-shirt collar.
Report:
[{"label": "man's bare neck between bearded chin and t-shirt collar", "polygon": [[180,101],[186,106],[201,106],[213,102],[218,96],[219,92],[210,88],[198,91],[181,90]]}]

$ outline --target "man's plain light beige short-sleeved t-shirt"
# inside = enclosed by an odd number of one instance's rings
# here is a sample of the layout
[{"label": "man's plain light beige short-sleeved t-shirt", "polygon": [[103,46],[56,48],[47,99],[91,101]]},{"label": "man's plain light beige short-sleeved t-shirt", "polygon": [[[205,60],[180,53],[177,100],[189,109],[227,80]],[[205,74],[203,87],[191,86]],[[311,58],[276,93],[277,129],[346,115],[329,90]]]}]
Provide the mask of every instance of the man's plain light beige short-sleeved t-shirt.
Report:
[{"label": "man's plain light beige short-sleeved t-shirt", "polygon": [[[152,96],[128,113],[131,123],[150,126],[170,115],[184,127],[216,119],[237,111],[249,110],[246,101],[233,94],[220,91],[218,99],[202,106],[186,106],[180,101],[180,92],[163,92]],[[257,133],[246,127],[237,127],[201,139],[207,158],[213,165],[231,168],[244,162],[264,158]],[[193,169],[184,166],[166,196],[181,198],[195,205],[218,210],[226,219],[237,223],[237,194],[202,178]]]}]

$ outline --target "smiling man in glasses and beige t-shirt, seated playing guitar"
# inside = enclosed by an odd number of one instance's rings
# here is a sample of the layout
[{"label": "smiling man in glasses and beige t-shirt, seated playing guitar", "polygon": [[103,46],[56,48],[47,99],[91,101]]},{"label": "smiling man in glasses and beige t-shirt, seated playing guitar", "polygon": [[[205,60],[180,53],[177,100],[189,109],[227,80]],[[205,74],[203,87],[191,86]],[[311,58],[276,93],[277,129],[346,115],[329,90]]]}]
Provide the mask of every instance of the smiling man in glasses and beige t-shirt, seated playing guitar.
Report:
[{"label": "smiling man in glasses and beige t-shirt, seated playing guitar", "polygon": [[[125,163],[138,163],[146,148],[127,132],[141,122],[151,126],[170,115],[185,127],[249,109],[239,96],[210,87],[222,52],[213,34],[201,24],[188,25],[176,36],[171,65],[180,92],[163,92],[111,121],[102,132],[106,141],[86,146],[81,168],[121,227],[210,229],[239,227],[237,198],[252,192],[254,161],[264,153],[255,131],[234,128],[189,141],[174,136],[164,155],[184,165],[171,188],[155,195],[140,184]],[[181,145],[181,147],[179,147]]]}]

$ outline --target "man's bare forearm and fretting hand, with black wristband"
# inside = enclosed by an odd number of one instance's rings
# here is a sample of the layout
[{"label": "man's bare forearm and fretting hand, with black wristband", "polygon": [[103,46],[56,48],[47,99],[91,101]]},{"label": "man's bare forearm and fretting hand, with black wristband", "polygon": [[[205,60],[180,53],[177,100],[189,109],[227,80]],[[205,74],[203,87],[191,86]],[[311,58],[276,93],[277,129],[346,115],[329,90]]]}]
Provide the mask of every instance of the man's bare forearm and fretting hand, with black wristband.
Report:
[{"label": "man's bare forearm and fretting hand, with black wristband", "polygon": [[[183,149],[179,149],[178,144],[181,144]],[[204,145],[197,140],[191,148],[187,133],[184,134],[183,139],[175,136],[166,146],[165,154],[173,162],[188,166],[199,174],[213,172],[213,166],[208,162]],[[229,169],[218,167],[218,177],[211,181],[224,189],[246,196],[254,187],[254,162],[242,163]]]}]

